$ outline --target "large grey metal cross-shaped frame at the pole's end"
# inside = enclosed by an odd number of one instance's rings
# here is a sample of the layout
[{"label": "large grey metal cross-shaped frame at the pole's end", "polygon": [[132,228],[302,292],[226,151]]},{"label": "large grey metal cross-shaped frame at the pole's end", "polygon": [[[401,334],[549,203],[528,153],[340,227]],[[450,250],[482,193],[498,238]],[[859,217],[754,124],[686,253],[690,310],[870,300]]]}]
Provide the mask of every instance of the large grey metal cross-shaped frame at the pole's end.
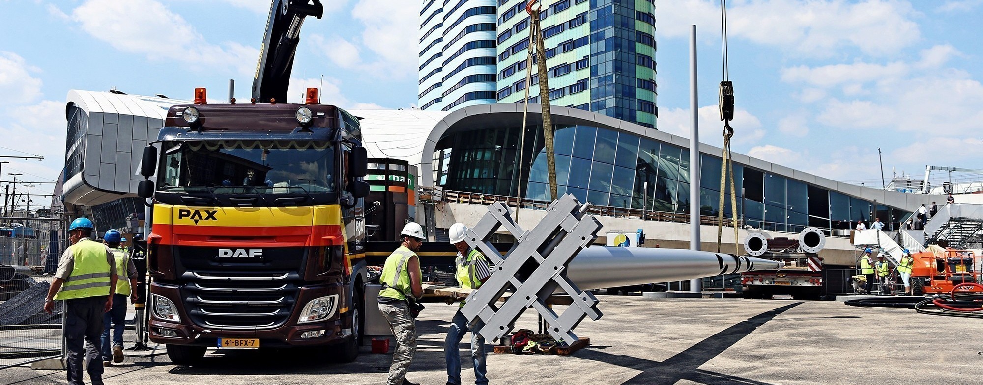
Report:
[{"label": "large grey metal cross-shaped frame at the pole's end", "polygon": [[[546,217],[532,231],[523,231],[512,219],[509,208],[496,202],[466,233],[468,245],[481,250],[492,263],[492,276],[468,296],[461,308],[472,324],[479,318],[485,323],[478,330],[485,339],[498,341],[507,335],[529,307],[543,316],[549,335],[568,344],[578,340],[573,329],[584,317],[601,318],[597,298],[566,278],[567,263],[597,239],[602,227],[601,222],[587,214],[589,207],[590,203],[581,204],[572,194],[566,194],[549,204]],[[490,242],[500,227],[516,240],[504,255]],[[557,288],[573,300],[561,315],[545,303]],[[514,289],[514,293],[497,306],[498,299],[509,289]]]}]

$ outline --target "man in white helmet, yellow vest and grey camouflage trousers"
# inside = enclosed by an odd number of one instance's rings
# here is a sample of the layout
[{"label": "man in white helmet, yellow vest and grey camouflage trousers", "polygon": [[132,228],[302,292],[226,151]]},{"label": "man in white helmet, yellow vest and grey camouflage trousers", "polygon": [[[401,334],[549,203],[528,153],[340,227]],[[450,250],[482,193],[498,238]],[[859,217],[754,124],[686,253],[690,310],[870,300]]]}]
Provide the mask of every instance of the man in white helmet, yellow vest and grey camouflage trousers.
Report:
[{"label": "man in white helmet, yellow vest and grey camouflage trousers", "polygon": [[389,329],[396,338],[396,351],[392,355],[387,384],[419,385],[406,379],[413,353],[417,351],[417,325],[410,312],[409,301],[424,295],[421,284],[423,274],[416,251],[423,246],[426,237],[424,229],[416,222],[407,223],[399,234],[402,245],[385,258],[379,276],[384,289],[378,293],[378,309],[389,322]]}]

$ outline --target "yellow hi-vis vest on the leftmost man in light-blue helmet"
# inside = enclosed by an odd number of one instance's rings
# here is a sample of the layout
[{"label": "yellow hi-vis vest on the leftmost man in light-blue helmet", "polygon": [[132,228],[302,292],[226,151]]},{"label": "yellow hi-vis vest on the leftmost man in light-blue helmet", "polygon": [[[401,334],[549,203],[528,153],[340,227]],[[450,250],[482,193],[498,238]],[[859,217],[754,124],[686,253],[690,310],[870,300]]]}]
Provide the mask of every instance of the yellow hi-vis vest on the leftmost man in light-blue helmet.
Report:
[{"label": "yellow hi-vis vest on the leftmost man in light-blue helmet", "polygon": [[75,257],[75,265],[61,291],[55,294],[55,300],[109,296],[110,265],[106,260],[106,247],[83,239],[69,249]]}]

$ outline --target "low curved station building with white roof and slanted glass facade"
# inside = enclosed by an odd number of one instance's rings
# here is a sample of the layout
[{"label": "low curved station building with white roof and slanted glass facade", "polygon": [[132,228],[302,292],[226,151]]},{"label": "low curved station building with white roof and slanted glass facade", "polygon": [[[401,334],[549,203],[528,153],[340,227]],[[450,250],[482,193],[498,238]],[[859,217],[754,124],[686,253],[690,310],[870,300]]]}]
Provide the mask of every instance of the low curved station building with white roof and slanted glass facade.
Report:
[{"label": "low curved station building with white roof and slanted glass facade", "polygon": [[[68,147],[63,197],[98,223],[139,230],[143,203],[136,197],[140,153],[154,140],[166,109],[187,103],[160,96],[72,91],[68,101]],[[540,106],[531,105],[538,111]],[[649,245],[688,247],[690,169],[699,167],[704,249],[716,242],[720,211],[722,149],[702,144],[700,164],[689,162],[689,139],[577,108],[552,106],[558,193],[589,201],[607,230],[643,229]],[[532,227],[549,203],[539,114],[523,105],[474,105],[452,112],[355,110],[370,157],[405,161],[419,198],[414,220],[428,225],[434,240],[454,222],[476,223],[494,200],[523,208],[519,224]],[[723,232],[723,243],[747,232],[777,236],[813,226],[833,236],[825,257],[853,258],[846,238],[855,221],[878,217],[897,230],[922,203],[943,195],[883,191],[832,181],[746,155],[732,154],[740,229]],[[518,198],[522,201],[519,202]],[[726,201],[729,201],[727,196]],[[67,205],[68,206],[68,205]],[[528,208],[528,209],[527,209]],[[726,221],[725,221],[726,222]],[[599,240],[604,241],[602,238]],[[724,248],[727,251],[728,249]],[[852,264],[852,262],[841,264]]]}]

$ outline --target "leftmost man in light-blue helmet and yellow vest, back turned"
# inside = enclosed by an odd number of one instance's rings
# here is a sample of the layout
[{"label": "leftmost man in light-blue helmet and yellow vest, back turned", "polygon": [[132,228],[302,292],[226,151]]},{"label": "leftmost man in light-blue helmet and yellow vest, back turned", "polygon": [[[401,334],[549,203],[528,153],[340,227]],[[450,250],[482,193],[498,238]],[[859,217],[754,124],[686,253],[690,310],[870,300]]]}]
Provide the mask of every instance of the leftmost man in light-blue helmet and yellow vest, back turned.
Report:
[{"label": "leftmost man in light-blue helmet and yellow vest, back turned", "polygon": [[[54,300],[65,302],[65,348],[68,350],[68,382],[83,385],[83,367],[92,385],[102,384],[99,334],[102,315],[113,307],[116,260],[112,250],[89,239],[95,226],[78,218],[68,227],[72,246],[65,249],[55,280],[44,301],[44,311],[54,310]],[[86,344],[83,345],[83,342]],[[85,366],[83,366],[85,358]]]}]

